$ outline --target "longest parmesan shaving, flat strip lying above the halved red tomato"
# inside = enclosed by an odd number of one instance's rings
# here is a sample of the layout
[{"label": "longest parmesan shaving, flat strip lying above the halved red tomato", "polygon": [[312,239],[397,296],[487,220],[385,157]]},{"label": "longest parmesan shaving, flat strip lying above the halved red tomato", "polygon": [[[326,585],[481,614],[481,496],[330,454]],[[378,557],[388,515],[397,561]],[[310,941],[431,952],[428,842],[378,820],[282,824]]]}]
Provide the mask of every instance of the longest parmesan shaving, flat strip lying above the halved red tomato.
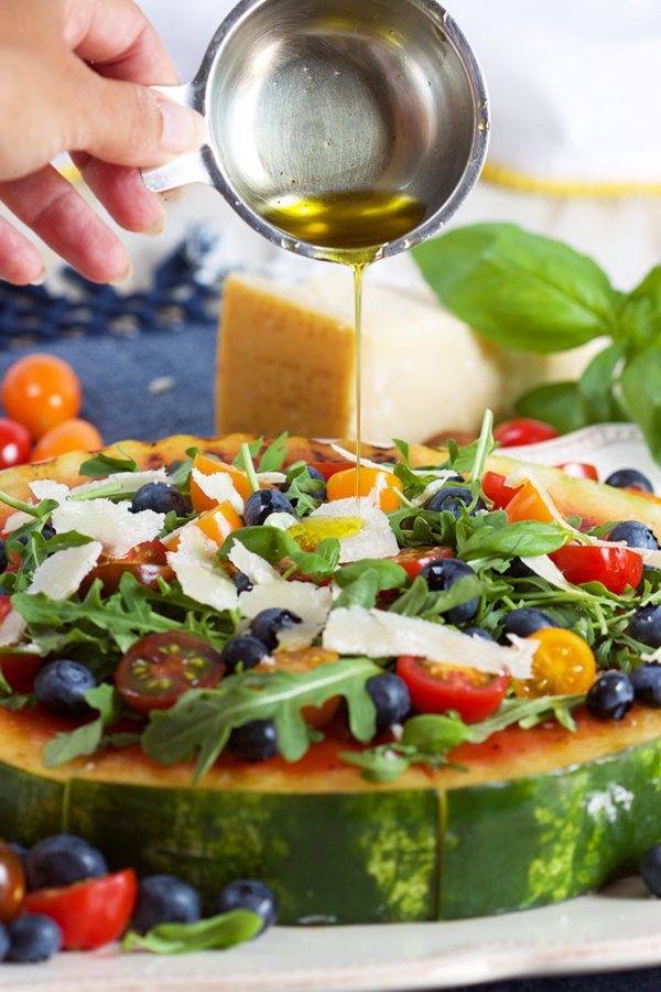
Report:
[{"label": "longest parmesan shaving, flat strip lying above the halved red tomato", "polygon": [[503,647],[416,616],[350,606],[333,611],[323,645],[340,655],[415,655],[458,668],[495,673],[507,670],[517,679],[528,679],[539,641],[519,640],[512,647]]}]

